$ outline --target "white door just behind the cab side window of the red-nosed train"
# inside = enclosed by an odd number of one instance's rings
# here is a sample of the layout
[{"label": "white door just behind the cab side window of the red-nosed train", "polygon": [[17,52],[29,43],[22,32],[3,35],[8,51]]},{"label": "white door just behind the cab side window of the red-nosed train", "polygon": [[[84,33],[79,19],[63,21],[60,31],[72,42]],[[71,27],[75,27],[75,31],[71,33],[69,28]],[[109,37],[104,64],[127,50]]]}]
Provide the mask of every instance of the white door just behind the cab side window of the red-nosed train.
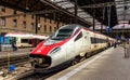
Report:
[{"label": "white door just behind the cab side window of the red-nosed train", "polygon": [[90,34],[87,31],[82,31],[82,34],[83,34],[83,37],[82,37],[81,49],[83,52],[88,52],[91,48]]}]

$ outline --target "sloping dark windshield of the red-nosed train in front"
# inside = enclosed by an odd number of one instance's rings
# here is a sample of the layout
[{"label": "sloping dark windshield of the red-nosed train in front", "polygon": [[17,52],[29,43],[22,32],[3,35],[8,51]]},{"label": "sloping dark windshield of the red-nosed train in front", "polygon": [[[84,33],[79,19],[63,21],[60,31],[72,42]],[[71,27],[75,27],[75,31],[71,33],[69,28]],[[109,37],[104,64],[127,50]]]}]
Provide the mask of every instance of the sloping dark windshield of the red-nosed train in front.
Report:
[{"label": "sloping dark windshield of the red-nosed train in front", "polygon": [[60,29],[52,37],[52,40],[64,40],[73,35],[74,29]]}]

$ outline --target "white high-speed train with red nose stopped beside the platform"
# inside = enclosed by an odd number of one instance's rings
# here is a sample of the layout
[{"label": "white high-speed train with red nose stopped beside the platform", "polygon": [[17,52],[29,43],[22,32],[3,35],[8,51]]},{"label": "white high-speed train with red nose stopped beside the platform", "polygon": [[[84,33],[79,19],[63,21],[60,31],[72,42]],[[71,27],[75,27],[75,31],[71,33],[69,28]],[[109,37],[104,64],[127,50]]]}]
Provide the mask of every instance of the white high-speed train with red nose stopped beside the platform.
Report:
[{"label": "white high-speed train with red nose stopped beside the platform", "polygon": [[83,26],[70,24],[57,29],[29,54],[35,68],[52,68],[65,62],[80,61],[116,41]]}]

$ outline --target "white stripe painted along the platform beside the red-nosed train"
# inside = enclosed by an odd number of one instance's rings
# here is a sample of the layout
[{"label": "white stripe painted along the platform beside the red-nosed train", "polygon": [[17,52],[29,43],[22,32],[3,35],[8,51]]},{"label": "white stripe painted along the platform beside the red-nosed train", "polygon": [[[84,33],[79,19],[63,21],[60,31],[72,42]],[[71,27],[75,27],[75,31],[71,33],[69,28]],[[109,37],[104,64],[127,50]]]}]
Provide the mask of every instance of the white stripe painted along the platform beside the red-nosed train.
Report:
[{"label": "white stripe painted along the platform beside the red-nosed train", "polygon": [[84,67],[87,67],[88,65],[90,65],[91,63],[96,61],[98,58],[100,58],[101,56],[103,56],[104,54],[106,54],[106,52],[102,53],[101,55],[98,55],[96,57],[94,57],[93,59],[89,61],[88,63],[86,63],[86,64],[79,66],[78,68],[69,71],[68,74],[64,75],[63,77],[58,78],[57,80],[67,80],[68,78],[70,78],[72,76],[74,76],[75,74],[77,74],[78,71],[80,71],[81,69],[83,69]]}]

